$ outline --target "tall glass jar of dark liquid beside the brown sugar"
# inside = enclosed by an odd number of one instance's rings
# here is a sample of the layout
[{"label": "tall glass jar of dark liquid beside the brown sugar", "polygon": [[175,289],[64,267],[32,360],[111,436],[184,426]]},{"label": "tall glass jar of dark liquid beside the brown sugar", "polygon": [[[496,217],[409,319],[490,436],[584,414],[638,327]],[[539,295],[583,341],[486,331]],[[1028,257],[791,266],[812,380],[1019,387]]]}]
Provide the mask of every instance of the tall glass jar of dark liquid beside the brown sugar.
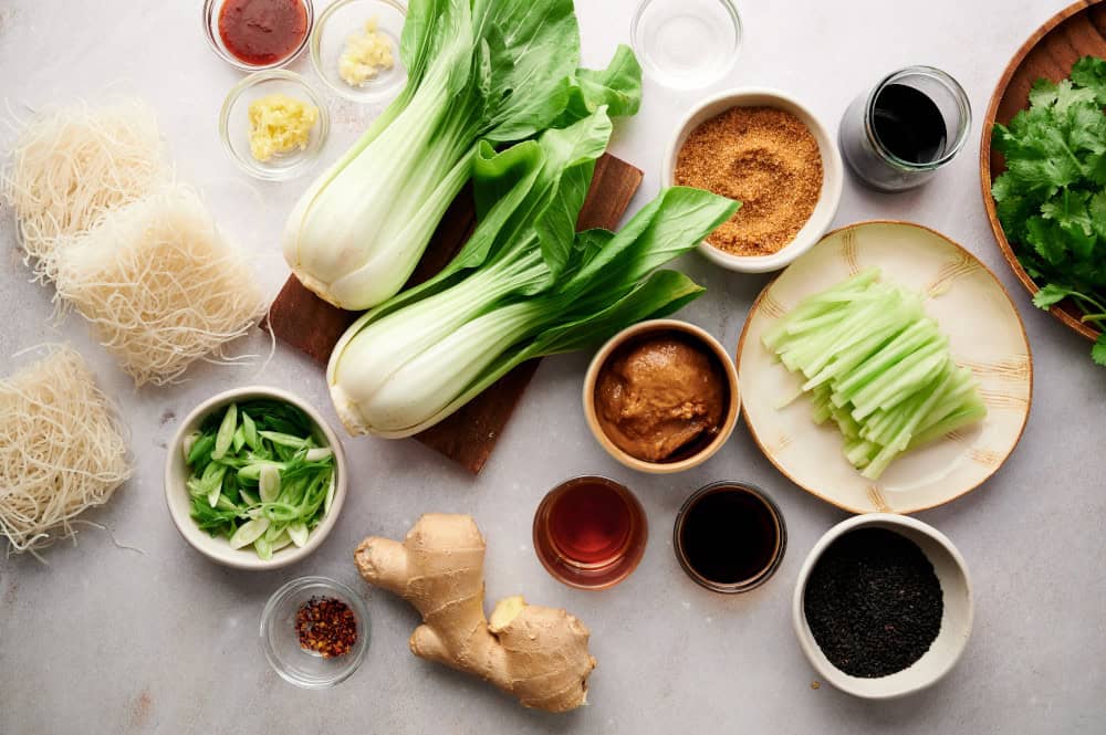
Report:
[{"label": "tall glass jar of dark liquid beside the brown sugar", "polygon": [[905,191],[956,158],[970,128],[971,105],[957,81],[931,66],[910,66],[849,105],[838,143],[863,183]]}]

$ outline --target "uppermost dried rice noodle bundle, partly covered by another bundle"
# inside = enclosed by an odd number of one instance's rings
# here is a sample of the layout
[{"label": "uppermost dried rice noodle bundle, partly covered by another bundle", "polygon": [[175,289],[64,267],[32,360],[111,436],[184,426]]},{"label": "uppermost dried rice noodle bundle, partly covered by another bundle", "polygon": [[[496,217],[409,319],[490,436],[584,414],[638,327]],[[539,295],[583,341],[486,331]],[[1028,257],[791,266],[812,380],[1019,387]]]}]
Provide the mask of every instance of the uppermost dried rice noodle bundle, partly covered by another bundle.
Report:
[{"label": "uppermost dried rice noodle bundle, partly covered by another bundle", "polygon": [[169,180],[154,111],[138,99],[92,108],[76,104],[21,130],[2,172],[27,260],[53,280],[59,238],[88,230],[101,216]]}]

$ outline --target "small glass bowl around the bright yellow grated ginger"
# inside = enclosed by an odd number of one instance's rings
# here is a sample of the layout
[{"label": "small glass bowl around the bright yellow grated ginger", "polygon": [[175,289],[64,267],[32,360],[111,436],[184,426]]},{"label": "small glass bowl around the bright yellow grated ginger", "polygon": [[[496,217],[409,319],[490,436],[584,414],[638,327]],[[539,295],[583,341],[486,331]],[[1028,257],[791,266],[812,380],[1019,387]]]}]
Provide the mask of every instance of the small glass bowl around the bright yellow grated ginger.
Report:
[{"label": "small glass bowl around the bright yellow grated ginger", "polygon": [[[267,161],[260,161],[250,153],[250,104],[259,97],[276,93],[314,105],[319,108],[319,122],[311,128],[306,148],[276,154]],[[307,170],[319,157],[330,129],[326,102],[302,76],[279,69],[250,74],[234,85],[219,114],[219,135],[231,159],[250,176],[267,181],[285,181]]]}]

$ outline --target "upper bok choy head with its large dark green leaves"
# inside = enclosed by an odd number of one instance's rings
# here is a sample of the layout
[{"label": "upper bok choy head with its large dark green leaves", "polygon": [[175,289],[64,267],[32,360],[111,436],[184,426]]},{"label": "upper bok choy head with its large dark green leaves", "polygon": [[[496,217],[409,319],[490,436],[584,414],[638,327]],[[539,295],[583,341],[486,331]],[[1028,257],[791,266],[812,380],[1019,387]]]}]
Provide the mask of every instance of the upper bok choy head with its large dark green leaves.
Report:
[{"label": "upper bok choy head with its large dark green leaves", "polygon": [[403,287],[481,141],[525,140],[601,105],[633,115],[640,103],[628,49],[604,71],[577,70],[572,0],[413,0],[400,56],[404,92],[307,189],[284,231],[300,281],[347,309]]}]

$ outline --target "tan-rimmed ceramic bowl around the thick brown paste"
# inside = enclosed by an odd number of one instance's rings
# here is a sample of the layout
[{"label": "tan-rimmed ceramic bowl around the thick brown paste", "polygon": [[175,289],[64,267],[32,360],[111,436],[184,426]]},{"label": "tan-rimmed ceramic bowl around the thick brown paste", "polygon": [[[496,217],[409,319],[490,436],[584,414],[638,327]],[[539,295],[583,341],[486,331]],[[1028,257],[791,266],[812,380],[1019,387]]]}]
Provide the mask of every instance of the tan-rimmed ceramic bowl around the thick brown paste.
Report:
[{"label": "tan-rimmed ceramic bowl around the thick brown paste", "polygon": [[[688,447],[681,449],[675,456],[662,461],[662,462],[649,462],[646,460],[640,460],[632,454],[619,449],[611,440],[599,423],[597,409],[595,406],[595,385],[598,381],[599,372],[606,366],[607,360],[624,345],[629,342],[641,339],[646,336],[658,336],[666,333],[674,333],[684,338],[690,338],[691,340],[700,344],[706,351],[710,353],[718,361],[718,365],[722,368],[722,372],[726,375],[727,388],[728,388],[728,406],[723,413],[722,426],[720,427],[717,434],[709,440],[700,440],[693,442]],[[607,451],[611,456],[618,460],[624,465],[630,468],[632,470],[637,470],[639,472],[646,472],[649,474],[674,474],[676,472],[684,472],[685,470],[690,470],[691,468],[699,466],[714,453],[722,448],[722,444],[727,442],[730,434],[733,433],[733,427],[738,422],[738,412],[741,409],[741,393],[738,390],[738,371],[733,367],[733,359],[722,347],[721,343],[712,337],[705,329],[695,326],[693,324],[688,324],[687,322],[680,322],[679,319],[654,319],[650,322],[641,322],[632,327],[623,329],[614,337],[611,338],[607,344],[605,344],[595,357],[592,359],[591,367],[587,368],[587,376],[584,378],[584,417],[587,419],[587,426],[592,430],[592,434],[595,435],[595,440],[599,442],[599,445]]]}]

